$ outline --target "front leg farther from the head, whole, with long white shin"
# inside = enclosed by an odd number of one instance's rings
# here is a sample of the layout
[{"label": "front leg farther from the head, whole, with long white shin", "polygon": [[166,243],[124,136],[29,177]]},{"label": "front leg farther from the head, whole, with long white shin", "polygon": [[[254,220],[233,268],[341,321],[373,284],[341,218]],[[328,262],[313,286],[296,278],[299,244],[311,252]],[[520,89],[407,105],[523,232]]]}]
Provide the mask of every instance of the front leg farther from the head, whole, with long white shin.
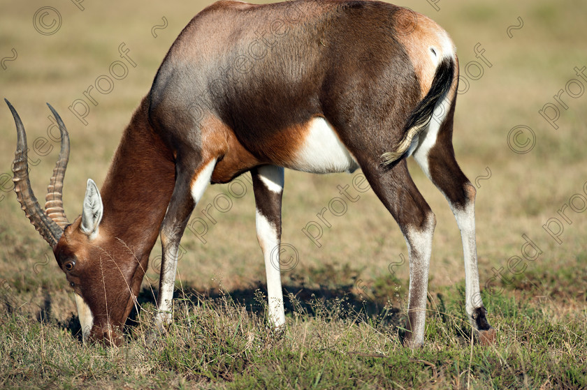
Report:
[{"label": "front leg farther from the head, whole, with long white shin", "polygon": [[275,165],[262,165],[251,170],[251,175],[255,194],[257,239],[265,259],[269,321],[277,329],[285,324],[280,272],[284,169]]}]

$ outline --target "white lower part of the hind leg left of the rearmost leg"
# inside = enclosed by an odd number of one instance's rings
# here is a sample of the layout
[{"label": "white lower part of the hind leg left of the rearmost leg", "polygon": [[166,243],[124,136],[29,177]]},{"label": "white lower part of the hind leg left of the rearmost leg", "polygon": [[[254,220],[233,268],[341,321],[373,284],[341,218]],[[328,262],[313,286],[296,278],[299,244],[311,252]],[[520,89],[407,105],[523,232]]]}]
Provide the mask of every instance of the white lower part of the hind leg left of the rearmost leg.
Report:
[{"label": "white lower part of the hind leg left of the rearmost leg", "polygon": [[424,230],[408,230],[405,234],[408,253],[410,255],[410,290],[407,311],[412,315],[412,343],[421,345],[424,342],[426,324],[426,300],[428,299],[428,271],[432,255],[432,239],[434,235],[435,217],[428,220]]}]

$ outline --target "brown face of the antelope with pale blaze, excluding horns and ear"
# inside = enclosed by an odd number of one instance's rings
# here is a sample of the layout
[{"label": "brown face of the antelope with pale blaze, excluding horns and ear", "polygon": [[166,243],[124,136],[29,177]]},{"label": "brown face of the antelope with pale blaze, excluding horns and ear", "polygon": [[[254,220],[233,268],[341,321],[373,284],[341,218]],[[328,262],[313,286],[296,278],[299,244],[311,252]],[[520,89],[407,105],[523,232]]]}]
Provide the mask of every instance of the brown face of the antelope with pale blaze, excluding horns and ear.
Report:
[{"label": "brown face of the antelope with pale blaze, excluding horns and ear", "polygon": [[[83,299],[89,313],[78,315],[84,336],[107,345],[122,342],[122,327],[143,279],[143,264],[124,242],[99,230],[94,237],[82,231],[82,218],[68,225],[54,253],[73,291]],[[91,327],[91,330],[88,328]]]}]

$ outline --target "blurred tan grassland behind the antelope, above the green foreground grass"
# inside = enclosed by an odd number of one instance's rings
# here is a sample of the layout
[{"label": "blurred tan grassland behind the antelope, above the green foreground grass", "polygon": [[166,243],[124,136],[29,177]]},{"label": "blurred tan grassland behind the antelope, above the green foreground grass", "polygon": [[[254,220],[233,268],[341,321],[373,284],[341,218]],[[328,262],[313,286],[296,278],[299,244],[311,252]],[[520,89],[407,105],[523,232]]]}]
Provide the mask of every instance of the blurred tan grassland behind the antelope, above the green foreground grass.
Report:
[{"label": "blurred tan grassland behind the antelope, above the green foreground grass", "polygon": [[[70,220],[80,213],[86,179],[94,179],[99,186],[103,182],[122,129],[149,90],[168,47],[191,17],[209,3],[85,1],[81,3],[84,10],[80,10],[66,0],[0,2],[0,58],[13,57],[11,50],[17,51],[17,59],[3,61],[6,70],[0,68],[0,96],[8,98],[20,113],[29,144],[36,137],[46,137],[50,121],[45,102],[61,113],[71,137],[64,188]],[[507,267],[509,257],[520,255],[522,234],[544,252],[539,260],[528,263],[528,275],[539,279],[544,272],[556,276],[559,269],[565,273],[583,269],[587,213],[567,211],[572,225],[565,224],[561,245],[546,234],[542,225],[552,217],[562,219],[557,211],[572,195],[587,196],[587,97],[563,98],[569,109],[561,110],[558,130],[551,128],[538,110],[545,103],[556,103],[553,95],[564,89],[568,80],[578,78],[575,66],[587,65],[587,3],[442,0],[437,4],[440,10],[423,0],[396,3],[432,17],[449,31],[458,47],[462,73],[469,61],[476,60],[473,48],[477,43],[492,64],[491,68],[484,66],[479,80],[468,79],[468,91],[458,98],[454,132],[456,156],[465,174],[474,181],[487,176],[486,168],[491,170],[491,178],[478,181],[481,283],[493,275],[492,267]],[[61,27],[48,36],[38,33],[33,24],[36,11],[45,6],[61,15]],[[163,17],[167,27],[158,29],[154,38],[152,27],[164,25]],[[509,38],[507,28],[519,24],[518,17],[523,20],[523,28],[513,30],[513,38]],[[46,18],[47,22],[52,19]],[[108,74],[110,63],[119,59],[120,43],[130,49],[129,56],[137,66],[129,67],[124,80],[115,80],[112,92],[100,94],[94,90],[99,105],[90,105],[86,118],[89,124],[84,126],[68,106],[83,97],[96,77]],[[507,145],[509,130],[518,125],[534,130],[535,148],[529,153],[513,153]],[[6,107],[0,109],[0,140],[0,173],[10,172],[15,130]],[[39,199],[44,198],[56,158],[57,147],[31,169]],[[437,215],[430,289],[462,283],[461,239],[447,202],[413,161],[410,170]],[[340,196],[338,185],[348,184],[349,193],[356,194],[352,192],[352,179],[345,174],[319,176],[287,171],[283,241],[293,245],[299,255],[297,267],[284,273],[287,285],[340,285],[360,279],[365,291],[377,295],[376,287],[385,285],[389,278],[391,262],[399,262],[401,253],[407,255],[400,230],[372,192],[358,194],[361,199],[356,203],[347,202],[344,216],[328,214],[332,227],[324,229],[321,248],[303,234],[306,223],[318,221],[316,213]],[[66,280],[45,241],[24,218],[11,182],[0,183],[0,280],[8,281],[25,300],[39,301],[50,294],[55,315],[64,319],[75,310]],[[228,193],[228,188],[208,188],[193,216],[201,216],[219,193]],[[264,283],[251,186],[247,185],[244,197],[232,199],[229,212],[212,211],[218,222],[210,224],[207,243],[190,232],[185,234],[182,247],[186,253],[180,260],[178,278],[184,286],[205,290],[222,283],[226,289],[235,290]],[[157,244],[152,258],[159,253]],[[150,270],[150,278],[157,278],[156,271]],[[407,264],[395,271],[407,282]],[[586,283],[585,273],[570,278],[572,295],[584,292]],[[575,299],[581,303],[580,297]],[[584,305],[584,298],[582,302]]]}]

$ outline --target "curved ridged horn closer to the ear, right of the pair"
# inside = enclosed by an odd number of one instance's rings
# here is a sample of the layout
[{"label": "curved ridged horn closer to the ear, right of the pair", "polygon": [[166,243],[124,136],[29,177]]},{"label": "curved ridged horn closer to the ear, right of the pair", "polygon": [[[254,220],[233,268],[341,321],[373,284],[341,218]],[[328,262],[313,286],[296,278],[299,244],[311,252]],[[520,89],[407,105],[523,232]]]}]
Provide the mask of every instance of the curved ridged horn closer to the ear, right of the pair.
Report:
[{"label": "curved ridged horn closer to the ear, right of the pair", "polygon": [[45,196],[45,213],[49,218],[55,221],[61,229],[65,229],[69,222],[65,216],[63,209],[63,179],[65,177],[65,170],[67,169],[67,162],[69,161],[69,135],[67,129],[57,114],[57,111],[51,107],[49,103],[49,110],[55,115],[57,124],[59,124],[59,131],[61,132],[61,151],[59,151],[59,158],[55,163],[53,176],[47,187],[47,196]]}]

